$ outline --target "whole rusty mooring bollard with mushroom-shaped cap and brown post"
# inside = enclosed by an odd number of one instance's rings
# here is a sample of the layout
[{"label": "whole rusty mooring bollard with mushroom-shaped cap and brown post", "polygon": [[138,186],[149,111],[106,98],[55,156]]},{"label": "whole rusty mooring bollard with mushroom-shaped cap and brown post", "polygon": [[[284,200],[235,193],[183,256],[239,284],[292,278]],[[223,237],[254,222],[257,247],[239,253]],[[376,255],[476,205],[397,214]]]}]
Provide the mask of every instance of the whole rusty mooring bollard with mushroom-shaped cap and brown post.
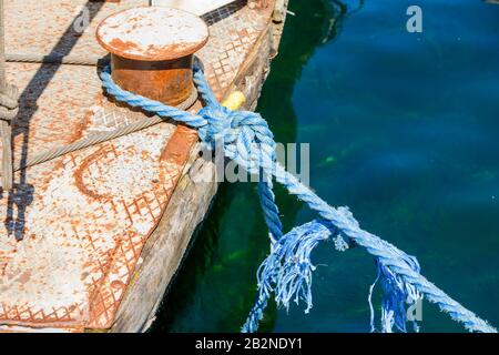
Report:
[{"label": "whole rusty mooring bollard with mushroom-shaped cap and brown post", "polygon": [[195,101],[193,54],[208,38],[198,17],[171,8],[133,8],[103,20],[96,38],[111,53],[112,78],[124,90],[169,105]]}]

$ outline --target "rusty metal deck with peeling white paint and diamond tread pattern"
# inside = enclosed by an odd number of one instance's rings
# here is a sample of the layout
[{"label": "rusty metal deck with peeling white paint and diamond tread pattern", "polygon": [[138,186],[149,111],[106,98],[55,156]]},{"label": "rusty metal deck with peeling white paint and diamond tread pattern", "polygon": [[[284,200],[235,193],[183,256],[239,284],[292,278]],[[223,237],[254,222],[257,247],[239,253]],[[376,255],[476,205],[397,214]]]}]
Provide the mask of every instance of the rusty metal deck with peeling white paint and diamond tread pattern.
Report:
[{"label": "rusty metal deck with peeling white paint and diamond tread pattern", "polygon": [[[96,26],[146,4],[84,0],[6,1],[7,52],[101,55]],[[79,36],[72,21],[91,9]],[[198,53],[223,98],[269,21],[243,2],[204,17],[211,38]],[[96,68],[8,63],[21,91],[14,159],[143,118],[101,91]],[[0,201],[0,325],[109,328],[197,138],[162,123],[20,171]]]}]

